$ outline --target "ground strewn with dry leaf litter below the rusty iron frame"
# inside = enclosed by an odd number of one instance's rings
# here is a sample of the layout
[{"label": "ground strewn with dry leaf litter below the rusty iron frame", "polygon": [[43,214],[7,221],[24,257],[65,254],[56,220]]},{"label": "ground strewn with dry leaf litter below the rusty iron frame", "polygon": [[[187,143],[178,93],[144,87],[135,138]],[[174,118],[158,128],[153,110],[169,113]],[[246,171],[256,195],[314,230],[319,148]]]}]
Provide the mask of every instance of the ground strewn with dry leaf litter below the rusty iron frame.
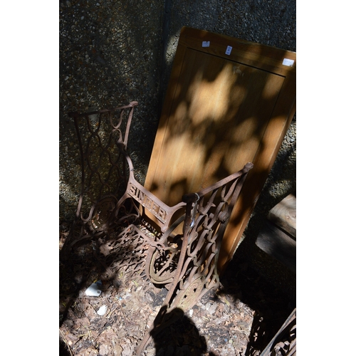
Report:
[{"label": "ground strewn with dry leaf litter below the rusty iron frame", "polygon": [[[68,236],[61,231],[60,248]],[[93,256],[88,241],[60,269],[60,355],[135,355],[155,322],[166,288],[140,275],[119,273],[115,281]],[[102,281],[99,297],[85,295]],[[234,258],[221,278],[191,309],[156,335],[145,356],[257,356],[295,308],[295,300]],[[100,308],[105,308],[100,314]]]}]

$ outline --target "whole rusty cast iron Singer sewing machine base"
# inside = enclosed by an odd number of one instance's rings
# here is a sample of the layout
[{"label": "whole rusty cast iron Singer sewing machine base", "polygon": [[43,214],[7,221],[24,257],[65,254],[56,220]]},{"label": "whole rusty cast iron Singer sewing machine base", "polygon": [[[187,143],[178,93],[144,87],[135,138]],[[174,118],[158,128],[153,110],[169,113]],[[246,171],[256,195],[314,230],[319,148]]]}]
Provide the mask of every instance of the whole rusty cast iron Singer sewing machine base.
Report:
[{"label": "whole rusty cast iron Singer sewing machine base", "polygon": [[109,278],[138,273],[147,286],[148,282],[166,286],[155,323],[137,347],[141,355],[152,335],[174,321],[172,310],[189,310],[219,286],[221,240],[253,164],[167,206],[134,176],[127,140],[136,106],[134,101],[111,110],[70,113],[78,135],[81,191],[65,247],[70,251],[89,239]]}]

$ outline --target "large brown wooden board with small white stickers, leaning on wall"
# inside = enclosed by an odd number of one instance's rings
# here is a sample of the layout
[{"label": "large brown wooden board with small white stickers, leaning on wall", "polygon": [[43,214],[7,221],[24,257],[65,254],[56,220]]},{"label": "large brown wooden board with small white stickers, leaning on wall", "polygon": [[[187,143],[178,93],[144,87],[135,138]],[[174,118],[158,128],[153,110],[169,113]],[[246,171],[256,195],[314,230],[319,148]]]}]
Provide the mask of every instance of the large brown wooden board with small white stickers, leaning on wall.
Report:
[{"label": "large brown wooden board with small white stickers, leaning on wall", "polygon": [[182,28],[145,188],[173,206],[253,163],[219,271],[234,255],[295,113],[295,72],[294,52]]}]

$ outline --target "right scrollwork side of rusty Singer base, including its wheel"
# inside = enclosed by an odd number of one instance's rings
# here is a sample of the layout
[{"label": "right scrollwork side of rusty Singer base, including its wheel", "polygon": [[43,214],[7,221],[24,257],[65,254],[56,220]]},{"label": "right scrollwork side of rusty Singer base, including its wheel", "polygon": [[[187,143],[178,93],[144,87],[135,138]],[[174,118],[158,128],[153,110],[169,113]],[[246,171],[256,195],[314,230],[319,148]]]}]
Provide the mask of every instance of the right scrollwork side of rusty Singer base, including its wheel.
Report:
[{"label": "right scrollwork side of rusty Singer base, including its wheel", "polygon": [[137,348],[140,355],[152,335],[173,323],[165,318],[175,308],[187,311],[211,288],[219,286],[217,263],[221,241],[231,216],[231,211],[241,192],[252,163],[201,192],[187,194],[186,214],[178,223],[183,224],[183,234],[174,236],[172,226],[159,242],[163,249],[151,247],[147,253],[147,276],[153,283],[168,283],[157,323],[146,333]]}]

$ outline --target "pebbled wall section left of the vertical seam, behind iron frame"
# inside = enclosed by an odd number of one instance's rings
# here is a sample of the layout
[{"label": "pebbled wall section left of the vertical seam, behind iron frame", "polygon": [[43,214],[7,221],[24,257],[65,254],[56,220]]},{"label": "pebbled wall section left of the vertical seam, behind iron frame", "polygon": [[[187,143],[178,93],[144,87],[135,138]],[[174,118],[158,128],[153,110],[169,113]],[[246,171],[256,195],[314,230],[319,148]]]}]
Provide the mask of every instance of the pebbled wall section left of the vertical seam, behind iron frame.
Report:
[{"label": "pebbled wall section left of the vertical seam, behind iron frame", "polygon": [[129,147],[143,183],[158,123],[163,1],[60,2],[60,220],[73,219],[80,166],[68,112],[139,102]]}]

